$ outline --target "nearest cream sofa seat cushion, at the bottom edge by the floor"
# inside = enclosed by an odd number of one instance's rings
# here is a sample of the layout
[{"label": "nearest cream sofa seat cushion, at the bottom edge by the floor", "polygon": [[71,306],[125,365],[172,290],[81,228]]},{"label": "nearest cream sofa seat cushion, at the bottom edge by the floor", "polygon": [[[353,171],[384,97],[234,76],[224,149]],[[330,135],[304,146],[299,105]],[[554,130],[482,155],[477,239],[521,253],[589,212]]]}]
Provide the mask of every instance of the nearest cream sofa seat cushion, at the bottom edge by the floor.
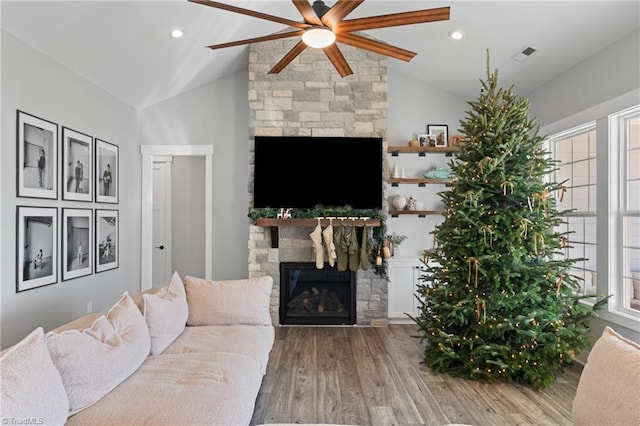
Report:
[{"label": "nearest cream sofa seat cushion, at the bottom edge by the floor", "polygon": [[71,425],[248,425],[260,365],[230,353],[152,356]]}]

